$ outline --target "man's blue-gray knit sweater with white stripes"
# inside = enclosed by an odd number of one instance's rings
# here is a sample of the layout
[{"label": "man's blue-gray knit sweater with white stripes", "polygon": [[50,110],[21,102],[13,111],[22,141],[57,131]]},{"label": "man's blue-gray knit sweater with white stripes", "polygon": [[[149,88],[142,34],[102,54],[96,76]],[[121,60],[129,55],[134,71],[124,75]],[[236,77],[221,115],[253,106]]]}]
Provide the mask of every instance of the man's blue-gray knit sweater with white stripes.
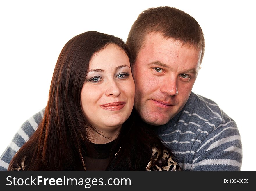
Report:
[{"label": "man's blue-gray knit sweater with white stripes", "polygon": [[[15,153],[35,132],[43,113],[44,109],[21,126],[0,157],[0,170],[8,168]],[[182,111],[154,129],[183,170],[241,169],[242,144],[236,123],[205,97],[191,92]]]}]

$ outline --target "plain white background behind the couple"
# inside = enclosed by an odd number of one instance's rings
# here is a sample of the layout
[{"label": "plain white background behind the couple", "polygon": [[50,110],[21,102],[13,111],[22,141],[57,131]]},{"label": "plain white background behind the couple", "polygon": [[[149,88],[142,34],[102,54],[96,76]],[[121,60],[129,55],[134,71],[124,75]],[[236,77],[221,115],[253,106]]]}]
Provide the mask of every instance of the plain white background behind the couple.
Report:
[{"label": "plain white background behind the couple", "polygon": [[255,7],[253,1],[1,1],[0,155],[19,127],[47,103],[58,55],[75,35],[94,30],[124,41],[150,7],[184,10],[200,24],[205,57],[193,92],[214,100],[239,128],[242,170],[255,160]]}]

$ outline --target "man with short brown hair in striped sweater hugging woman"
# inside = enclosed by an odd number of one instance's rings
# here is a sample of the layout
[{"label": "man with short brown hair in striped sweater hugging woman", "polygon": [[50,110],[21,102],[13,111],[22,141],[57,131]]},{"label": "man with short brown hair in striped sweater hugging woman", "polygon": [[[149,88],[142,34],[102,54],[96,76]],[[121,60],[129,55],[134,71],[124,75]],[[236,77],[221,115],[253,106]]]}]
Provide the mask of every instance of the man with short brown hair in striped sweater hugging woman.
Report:
[{"label": "man with short brown hair in striped sweater hugging woman", "polygon": [[[183,170],[240,170],[235,122],[213,101],[191,92],[204,55],[202,29],[176,8],[143,11],[127,38],[135,81],[134,106],[177,156]],[[0,169],[29,139],[44,110],[27,120],[1,156]]]}]

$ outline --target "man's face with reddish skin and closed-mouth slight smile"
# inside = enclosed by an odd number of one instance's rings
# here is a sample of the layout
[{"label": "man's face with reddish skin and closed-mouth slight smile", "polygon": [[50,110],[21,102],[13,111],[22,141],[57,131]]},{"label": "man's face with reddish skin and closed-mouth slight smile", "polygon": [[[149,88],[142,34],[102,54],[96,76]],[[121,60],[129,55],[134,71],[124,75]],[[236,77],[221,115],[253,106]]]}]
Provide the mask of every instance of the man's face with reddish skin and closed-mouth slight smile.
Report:
[{"label": "man's face with reddish skin and closed-mouth slight smile", "polygon": [[200,67],[201,50],[160,32],[146,35],[132,68],[134,106],[151,125],[166,124],[184,107]]}]

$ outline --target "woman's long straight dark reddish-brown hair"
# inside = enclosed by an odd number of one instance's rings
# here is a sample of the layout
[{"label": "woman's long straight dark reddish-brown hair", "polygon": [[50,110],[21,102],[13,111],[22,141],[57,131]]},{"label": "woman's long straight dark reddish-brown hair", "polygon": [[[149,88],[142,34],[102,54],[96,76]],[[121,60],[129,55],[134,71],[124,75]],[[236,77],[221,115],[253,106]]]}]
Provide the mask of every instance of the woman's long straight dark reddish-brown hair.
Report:
[{"label": "woman's long straight dark reddish-brown hair", "polygon": [[[90,138],[87,136],[90,124],[81,107],[81,90],[93,54],[112,43],[130,58],[127,46],[120,38],[96,31],[77,35],[65,44],[54,69],[42,122],[30,140],[16,153],[8,170],[22,167],[24,160],[25,170],[65,170],[76,166],[75,159],[79,157],[82,142],[85,150],[90,151]],[[138,147],[141,151],[146,149],[150,157],[152,145],[162,145],[151,130],[139,127],[141,121],[136,124],[137,119],[140,121],[133,111],[115,144],[116,147],[122,144],[118,160],[127,161],[131,170],[139,169],[141,160],[141,156],[137,156],[136,161],[130,157],[133,148]]]}]

